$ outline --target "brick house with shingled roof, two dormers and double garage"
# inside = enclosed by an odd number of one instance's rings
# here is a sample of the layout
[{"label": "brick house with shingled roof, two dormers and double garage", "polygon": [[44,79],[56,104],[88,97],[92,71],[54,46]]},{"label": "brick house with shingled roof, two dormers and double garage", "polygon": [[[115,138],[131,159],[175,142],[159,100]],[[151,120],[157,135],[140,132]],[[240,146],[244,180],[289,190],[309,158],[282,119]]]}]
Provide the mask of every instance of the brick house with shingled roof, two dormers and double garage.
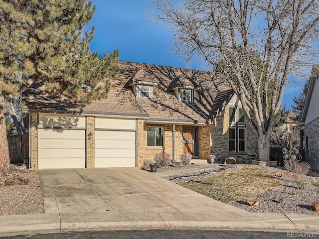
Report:
[{"label": "brick house with shingled roof, two dormers and double garage", "polygon": [[165,151],[219,162],[258,159],[241,104],[213,73],[120,61],[107,99],[80,106],[37,83],[23,94],[31,165],[38,168],[142,167]]}]

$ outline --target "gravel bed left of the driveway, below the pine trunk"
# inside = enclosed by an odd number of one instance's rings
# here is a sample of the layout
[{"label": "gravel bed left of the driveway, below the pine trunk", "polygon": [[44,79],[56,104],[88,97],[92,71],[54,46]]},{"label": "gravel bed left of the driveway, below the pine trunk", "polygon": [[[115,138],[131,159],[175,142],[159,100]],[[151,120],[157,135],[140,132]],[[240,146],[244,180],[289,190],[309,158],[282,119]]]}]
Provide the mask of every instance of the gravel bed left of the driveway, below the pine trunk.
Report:
[{"label": "gravel bed left of the driveway, below the pine trunk", "polygon": [[[26,185],[5,185],[8,178],[20,178]],[[10,165],[0,183],[0,215],[42,214],[44,203],[40,181],[35,171],[24,165]]]}]

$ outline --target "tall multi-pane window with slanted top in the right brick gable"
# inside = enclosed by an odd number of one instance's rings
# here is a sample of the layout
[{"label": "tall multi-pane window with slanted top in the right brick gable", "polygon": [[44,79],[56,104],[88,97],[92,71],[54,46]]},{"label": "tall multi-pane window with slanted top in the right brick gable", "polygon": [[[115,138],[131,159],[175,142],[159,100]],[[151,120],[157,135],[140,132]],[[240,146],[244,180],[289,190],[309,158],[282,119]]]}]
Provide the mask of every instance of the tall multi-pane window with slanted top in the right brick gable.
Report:
[{"label": "tall multi-pane window with slanted top in the right brick gable", "polygon": [[229,107],[229,152],[246,151],[246,124],[244,110]]}]

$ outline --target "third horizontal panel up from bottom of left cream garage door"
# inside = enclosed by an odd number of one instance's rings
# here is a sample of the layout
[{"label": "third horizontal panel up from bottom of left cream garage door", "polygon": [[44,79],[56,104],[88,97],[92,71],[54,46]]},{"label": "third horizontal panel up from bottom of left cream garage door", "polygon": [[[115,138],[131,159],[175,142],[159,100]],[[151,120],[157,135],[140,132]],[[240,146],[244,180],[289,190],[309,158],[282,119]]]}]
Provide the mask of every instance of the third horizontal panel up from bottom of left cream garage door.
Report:
[{"label": "third horizontal panel up from bottom of left cream garage door", "polygon": [[39,148],[85,148],[85,141],[83,139],[41,139],[38,142]]}]

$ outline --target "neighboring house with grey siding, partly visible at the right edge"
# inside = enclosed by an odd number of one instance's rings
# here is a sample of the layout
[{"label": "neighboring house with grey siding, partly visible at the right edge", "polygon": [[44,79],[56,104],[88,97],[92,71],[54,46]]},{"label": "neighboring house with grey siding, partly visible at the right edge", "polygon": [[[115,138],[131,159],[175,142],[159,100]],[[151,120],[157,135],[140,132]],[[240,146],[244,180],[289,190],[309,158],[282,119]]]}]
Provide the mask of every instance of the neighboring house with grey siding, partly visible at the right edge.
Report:
[{"label": "neighboring house with grey siding, partly visible at the right edge", "polygon": [[301,148],[305,149],[305,161],[313,169],[319,169],[319,65],[314,65],[310,76],[301,122]]}]

